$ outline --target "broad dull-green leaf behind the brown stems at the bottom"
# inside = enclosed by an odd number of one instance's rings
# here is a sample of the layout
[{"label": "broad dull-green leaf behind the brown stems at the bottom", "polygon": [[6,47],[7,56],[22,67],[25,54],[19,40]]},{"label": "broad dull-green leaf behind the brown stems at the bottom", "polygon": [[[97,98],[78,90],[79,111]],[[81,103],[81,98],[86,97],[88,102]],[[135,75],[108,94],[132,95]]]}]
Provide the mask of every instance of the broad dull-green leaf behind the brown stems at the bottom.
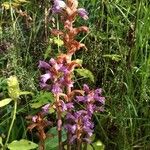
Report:
[{"label": "broad dull-green leaf behind the brown stems at the bottom", "polygon": [[[58,149],[58,131],[56,127],[51,128],[48,132],[48,135],[52,137],[48,137],[45,140],[45,150],[57,150]],[[62,130],[62,142],[67,139],[65,130]]]}]

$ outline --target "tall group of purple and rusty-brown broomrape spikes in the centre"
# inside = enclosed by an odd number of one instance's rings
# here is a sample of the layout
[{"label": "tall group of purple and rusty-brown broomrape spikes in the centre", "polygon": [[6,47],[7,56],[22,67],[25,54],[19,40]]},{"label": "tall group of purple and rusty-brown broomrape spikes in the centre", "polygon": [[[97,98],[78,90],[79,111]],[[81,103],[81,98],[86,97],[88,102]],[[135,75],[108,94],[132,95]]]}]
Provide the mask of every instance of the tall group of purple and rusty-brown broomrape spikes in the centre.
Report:
[{"label": "tall group of purple and rusty-brown broomrape spikes in the centre", "polygon": [[57,114],[59,150],[63,149],[62,129],[67,132],[67,149],[70,150],[74,144],[79,150],[83,143],[90,142],[94,130],[93,113],[104,110],[105,98],[102,96],[102,89],[91,90],[86,84],[83,89],[74,88],[74,70],[82,65],[78,60],[72,60],[72,55],[81,48],[86,49],[75,37],[80,32],[88,32],[88,27],[74,27],[73,23],[78,16],[87,20],[88,12],[84,8],[78,8],[77,0],[54,0],[52,13],[60,15],[64,28],[52,29],[51,33],[63,41],[66,53],[59,53],[49,62],[39,62],[39,68],[44,72],[40,78],[40,86],[52,92],[55,97],[54,103],[47,104],[42,109],[48,112],[53,107]]}]

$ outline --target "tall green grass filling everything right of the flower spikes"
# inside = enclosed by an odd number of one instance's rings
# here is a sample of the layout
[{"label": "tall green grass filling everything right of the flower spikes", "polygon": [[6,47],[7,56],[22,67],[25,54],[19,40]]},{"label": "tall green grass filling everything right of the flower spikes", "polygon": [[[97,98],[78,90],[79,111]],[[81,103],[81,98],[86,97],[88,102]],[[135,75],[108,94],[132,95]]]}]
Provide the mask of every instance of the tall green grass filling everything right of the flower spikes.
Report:
[{"label": "tall green grass filling everything right of the flower spikes", "polygon": [[97,134],[106,149],[149,149],[150,6],[129,0],[96,4],[89,4],[96,9],[90,9],[89,50],[83,58],[106,95]]}]

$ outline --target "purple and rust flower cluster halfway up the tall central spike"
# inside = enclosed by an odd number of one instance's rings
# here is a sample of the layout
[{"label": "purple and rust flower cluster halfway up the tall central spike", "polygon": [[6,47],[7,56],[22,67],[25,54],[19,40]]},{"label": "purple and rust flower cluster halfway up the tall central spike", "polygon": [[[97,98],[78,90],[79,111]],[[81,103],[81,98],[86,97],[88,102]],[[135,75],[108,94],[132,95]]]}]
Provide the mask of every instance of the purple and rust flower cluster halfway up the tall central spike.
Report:
[{"label": "purple and rust flower cluster halfway up the tall central spike", "polygon": [[40,61],[39,68],[45,70],[45,74],[41,75],[41,88],[49,89],[57,94],[62,93],[65,87],[73,87],[71,76],[76,66],[79,64],[75,61],[68,62],[66,56],[60,56],[57,60],[51,58],[49,63]]}]

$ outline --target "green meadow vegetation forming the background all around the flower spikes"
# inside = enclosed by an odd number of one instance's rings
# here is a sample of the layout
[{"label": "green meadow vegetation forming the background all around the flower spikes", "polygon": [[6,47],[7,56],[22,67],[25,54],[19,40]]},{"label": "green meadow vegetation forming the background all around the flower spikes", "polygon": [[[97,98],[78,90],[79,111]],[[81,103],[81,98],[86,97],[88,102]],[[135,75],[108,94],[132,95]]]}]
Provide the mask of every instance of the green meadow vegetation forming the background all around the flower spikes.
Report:
[{"label": "green meadow vegetation forming the background all around the flower spikes", "polygon": [[[90,71],[88,75],[76,72],[74,86],[82,89],[86,83],[91,89],[102,88],[105,96],[104,111],[93,116],[93,143],[100,144],[95,149],[149,150],[150,2],[79,0],[79,6],[89,13],[88,20],[77,17],[74,23],[89,28],[88,33],[77,36],[87,50],[77,51],[73,58],[82,59],[82,66]],[[21,91],[28,91],[19,98],[8,143],[27,139],[39,144],[29,120],[53,99],[40,88],[39,60],[48,62],[59,55],[60,49],[65,52],[60,37],[51,34],[52,29],[62,28],[51,8],[49,0],[0,2],[0,100],[9,97],[7,78],[12,75],[17,76]],[[12,102],[0,108],[0,146],[7,140],[13,110]],[[50,111],[55,125],[54,110]],[[47,143],[58,139],[53,140],[49,138]],[[94,145],[83,149],[94,149]]]}]

